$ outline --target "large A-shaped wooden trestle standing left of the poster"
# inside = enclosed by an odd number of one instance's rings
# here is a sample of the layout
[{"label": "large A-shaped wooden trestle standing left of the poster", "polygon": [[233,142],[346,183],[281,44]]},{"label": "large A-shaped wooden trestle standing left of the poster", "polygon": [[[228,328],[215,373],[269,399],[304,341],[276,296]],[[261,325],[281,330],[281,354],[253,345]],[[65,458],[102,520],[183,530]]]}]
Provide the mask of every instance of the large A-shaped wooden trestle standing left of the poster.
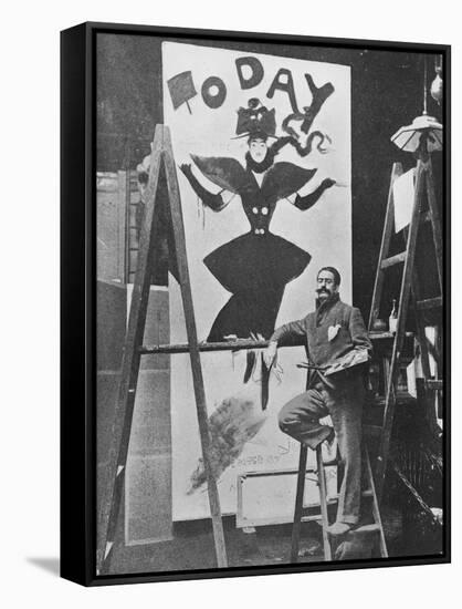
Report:
[{"label": "large A-shaped wooden trestle standing left of the poster", "polygon": [[188,351],[191,360],[203,466],[208,483],[217,565],[218,567],[228,566],[220,498],[210,461],[210,434],[208,426],[206,392],[203,388],[202,368],[196,331],[195,310],[185,242],[185,227],[182,221],[181,202],[174,152],[168,127],[165,125],[157,125],[150,156],[149,180],[146,190],[146,209],[139,241],[138,266],[132,296],[128,328],[123,352],[115,423],[111,435],[108,454],[109,491],[105,494],[99,509],[98,526],[99,530],[103,531],[102,540],[97,550],[97,569],[99,575],[107,575],[111,569],[117,518],[124,491],[128,442],[132,431],[140,357],[143,353],[146,353],[146,350],[143,349],[143,339],[146,326],[149,288],[153,271],[156,265],[156,260],[153,255],[154,244],[156,238],[159,238],[158,218],[161,203],[158,200],[157,188],[161,166],[165,168],[167,178],[168,199],[170,205],[167,205],[166,207],[169,209],[169,220],[172,230],[177,265],[176,270],[181,288],[182,304],[186,318]]}]

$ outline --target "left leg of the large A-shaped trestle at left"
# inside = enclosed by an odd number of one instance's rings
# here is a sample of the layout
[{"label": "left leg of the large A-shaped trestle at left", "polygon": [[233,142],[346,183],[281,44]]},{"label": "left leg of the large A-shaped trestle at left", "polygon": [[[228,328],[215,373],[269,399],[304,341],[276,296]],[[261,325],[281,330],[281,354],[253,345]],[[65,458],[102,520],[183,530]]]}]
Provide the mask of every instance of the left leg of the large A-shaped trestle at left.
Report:
[{"label": "left leg of the large A-shaped trestle at left", "polygon": [[154,249],[156,192],[161,163],[161,147],[162,131],[158,125],[150,157],[146,214],[141,229],[138,267],[132,295],[130,313],[122,358],[120,382],[111,434],[107,464],[108,489],[103,493],[103,500],[98,508],[98,531],[103,531],[97,550],[97,569],[101,575],[108,574],[111,569],[117,518],[125,482],[128,442],[140,360],[138,347],[143,343],[144,338],[150,277],[154,266],[154,257],[150,252]]}]

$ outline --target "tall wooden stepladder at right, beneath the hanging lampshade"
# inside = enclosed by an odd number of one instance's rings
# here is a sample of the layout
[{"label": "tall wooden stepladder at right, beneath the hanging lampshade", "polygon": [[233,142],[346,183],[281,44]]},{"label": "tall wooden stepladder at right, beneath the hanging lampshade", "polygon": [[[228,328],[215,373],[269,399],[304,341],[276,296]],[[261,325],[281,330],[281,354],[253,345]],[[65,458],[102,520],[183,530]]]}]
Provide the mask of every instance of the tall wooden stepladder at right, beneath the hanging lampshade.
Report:
[{"label": "tall wooden stepladder at right, beneath the hanging lampshade", "polygon": [[[442,307],[443,292],[443,270],[442,270],[442,240],[441,225],[439,219],[437,198],[434,193],[434,183],[431,165],[431,156],[420,152],[419,159],[414,173],[414,196],[412,214],[409,227],[405,230],[406,248],[403,251],[389,256],[390,241],[393,234],[395,219],[395,202],[393,202],[393,184],[399,176],[402,175],[402,166],[400,163],[395,163],[391,172],[390,189],[388,194],[387,213],[382,239],[380,245],[380,254],[377,265],[376,279],[374,285],[372,303],[369,317],[369,333],[374,337],[374,323],[379,317],[380,301],[384,289],[386,272],[389,268],[396,265],[403,265],[400,293],[398,301],[398,319],[397,330],[392,337],[391,358],[386,361],[385,374],[385,411],[384,421],[380,433],[379,450],[374,469],[376,489],[379,503],[382,497],[384,482],[387,471],[387,463],[390,448],[391,429],[395,416],[396,406],[396,384],[398,379],[400,359],[406,336],[406,321],[410,299],[413,303],[417,322],[417,334],[419,339],[422,361],[422,372],[426,378],[426,404],[427,414],[433,427],[437,427],[437,419],[434,407],[431,407],[428,398],[430,389],[441,389],[441,383],[432,385],[430,381],[430,355],[428,340],[426,336],[426,326],[423,320],[423,311],[437,307]],[[423,195],[427,194],[428,210],[422,210]],[[419,277],[416,268],[416,251],[419,227],[421,223],[430,221],[433,236],[433,246],[437,261],[439,295],[434,298],[421,299],[421,290]]]}]

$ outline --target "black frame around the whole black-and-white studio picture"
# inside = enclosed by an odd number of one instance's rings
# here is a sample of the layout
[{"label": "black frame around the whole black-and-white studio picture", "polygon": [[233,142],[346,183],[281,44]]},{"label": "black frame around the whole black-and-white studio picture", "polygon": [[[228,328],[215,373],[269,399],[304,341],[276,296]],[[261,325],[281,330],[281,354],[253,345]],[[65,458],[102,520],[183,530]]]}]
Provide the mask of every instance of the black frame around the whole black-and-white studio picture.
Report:
[{"label": "black frame around the whole black-and-white studio picture", "polygon": [[[323,50],[402,51],[443,58],[442,197],[444,202],[444,437],[443,551],[371,560],[225,569],[97,575],[96,572],[96,39],[98,33],[212,41],[217,45],[274,44]],[[451,560],[451,314],[450,165],[451,48],[441,44],[329,39],[87,22],[61,33],[61,576],[84,586],[277,575],[318,570],[428,565]],[[353,100],[355,103],[355,100]],[[378,246],[377,246],[378,247]]]}]

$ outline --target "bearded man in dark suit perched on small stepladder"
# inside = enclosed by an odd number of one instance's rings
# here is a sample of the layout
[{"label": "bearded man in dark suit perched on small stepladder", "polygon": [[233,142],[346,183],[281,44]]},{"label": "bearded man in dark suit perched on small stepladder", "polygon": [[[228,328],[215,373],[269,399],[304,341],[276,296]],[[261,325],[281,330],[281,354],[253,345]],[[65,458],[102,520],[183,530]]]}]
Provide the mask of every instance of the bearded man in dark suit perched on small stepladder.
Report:
[{"label": "bearded man in dark suit perched on small stepladder", "polygon": [[[344,478],[336,522],[330,535],[348,533],[359,520],[361,496],[361,416],[365,396],[364,362],[371,343],[359,309],[342,302],[340,275],[334,267],[317,273],[316,309],[304,319],[277,328],[264,361],[271,368],[277,347],[302,339],[308,355],[308,389],[285,404],[279,415],[281,430],[312,450],[337,436]],[[358,353],[359,352],[359,353]],[[339,365],[340,364],[340,365]],[[327,371],[336,367],[335,374]],[[319,419],[330,415],[334,429]]]}]

